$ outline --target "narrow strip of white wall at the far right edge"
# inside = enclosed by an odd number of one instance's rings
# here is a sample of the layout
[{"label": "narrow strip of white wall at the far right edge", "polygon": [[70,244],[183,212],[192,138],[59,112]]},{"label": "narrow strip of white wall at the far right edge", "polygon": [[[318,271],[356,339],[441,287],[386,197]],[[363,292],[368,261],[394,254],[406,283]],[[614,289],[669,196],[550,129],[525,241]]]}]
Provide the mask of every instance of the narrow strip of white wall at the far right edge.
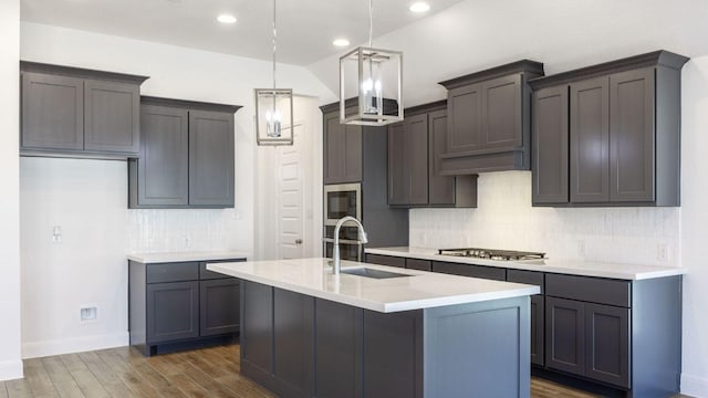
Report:
[{"label": "narrow strip of white wall at the far right edge", "polygon": [[708,56],[683,71],[681,260],[684,282],[684,375],[681,391],[708,397]]}]

